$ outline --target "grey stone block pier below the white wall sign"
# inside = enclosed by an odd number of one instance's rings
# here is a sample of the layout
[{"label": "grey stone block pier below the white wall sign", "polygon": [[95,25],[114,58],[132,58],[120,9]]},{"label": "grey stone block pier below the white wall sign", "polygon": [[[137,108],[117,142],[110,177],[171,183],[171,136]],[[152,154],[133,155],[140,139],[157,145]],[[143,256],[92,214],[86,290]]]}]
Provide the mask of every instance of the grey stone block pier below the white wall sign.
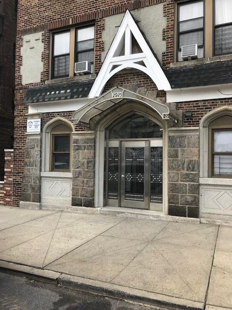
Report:
[{"label": "grey stone block pier below the white wall sign", "polygon": [[40,203],[41,135],[28,135],[21,201]]}]

